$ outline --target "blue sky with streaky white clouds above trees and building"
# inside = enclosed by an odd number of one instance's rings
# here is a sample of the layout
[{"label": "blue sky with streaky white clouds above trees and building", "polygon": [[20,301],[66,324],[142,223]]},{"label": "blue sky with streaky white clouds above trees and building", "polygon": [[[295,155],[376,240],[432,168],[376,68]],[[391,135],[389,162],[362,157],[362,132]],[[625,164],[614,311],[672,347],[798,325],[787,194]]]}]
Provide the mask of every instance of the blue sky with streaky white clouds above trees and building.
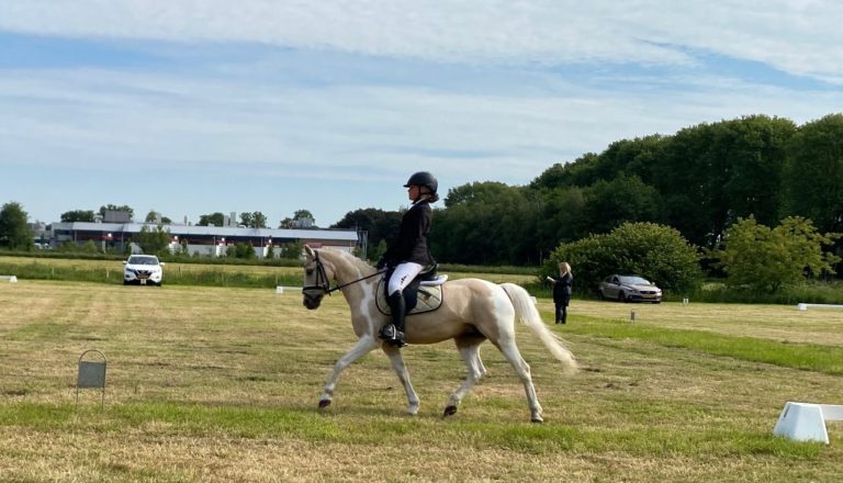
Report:
[{"label": "blue sky with streaky white clouds above trees and building", "polygon": [[[843,111],[835,0],[0,0],[0,203],[327,227],[615,141]],[[441,202],[439,203],[441,205]]]}]

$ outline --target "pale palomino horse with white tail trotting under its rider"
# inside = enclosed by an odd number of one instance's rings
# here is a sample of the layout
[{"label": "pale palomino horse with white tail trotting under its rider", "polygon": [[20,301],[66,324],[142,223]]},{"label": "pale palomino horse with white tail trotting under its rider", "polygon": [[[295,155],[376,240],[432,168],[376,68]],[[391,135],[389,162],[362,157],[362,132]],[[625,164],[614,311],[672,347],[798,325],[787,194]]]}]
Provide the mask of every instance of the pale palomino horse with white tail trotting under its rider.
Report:
[{"label": "pale palomino horse with white tail trotting under its rider", "polygon": [[[380,273],[366,261],[340,250],[306,247],[304,265],[304,306],[317,308],[325,294],[341,290],[351,307],[351,325],[359,338],[357,344],[334,366],[334,372],[319,397],[319,407],[330,405],[339,374],[353,361],[378,347],[390,358],[407,393],[407,413],[418,412],[418,396],[409,383],[409,372],[401,349],[383,344],[378,330],[389,322],[375,305]],[[331,281],[337,287],[330,288]],[[566,372],[576,371],[573,355],[541,321],[536,305],[522,288],[513,283],[495,284],[480,279],[447,282],[442,306],[434,312],[407,317],[406,340],[412,344],[436,344],[453,339],[465,361],[469,375],[454,391],[445,407],[445,416],[457,413],[457,406],[471,387],[486,373],[480,359],[480,345],[488,339],[497,347],[524,384],[530,406],[530,420],[541,423],[541,405],[530,378],[530,367],[515,345],[515,318],[520,318],[541,339],[550,352],[562,362]]]}]

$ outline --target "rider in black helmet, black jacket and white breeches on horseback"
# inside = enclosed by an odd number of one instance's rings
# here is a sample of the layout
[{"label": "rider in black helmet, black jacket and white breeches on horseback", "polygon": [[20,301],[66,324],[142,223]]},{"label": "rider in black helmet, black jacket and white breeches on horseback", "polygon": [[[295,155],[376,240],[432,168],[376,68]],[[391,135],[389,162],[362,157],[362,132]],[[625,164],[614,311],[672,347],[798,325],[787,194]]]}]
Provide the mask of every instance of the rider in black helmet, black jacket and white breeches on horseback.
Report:
[{"label": "rider in black helmet, black jacket and white breeches on horseback", "polygon": [[389,267],[392,271],[386,282],[386,301],[392,312],[392,324],[381,328],[380,337],[386,344],[404,347],[404,289],[427,266],[434,265],[434,257],[427,249],[427,233],[430,231],[432,209],[430,203],[439,200],[436,190],[439,182],[427,171],[409,177],[404,184],[413,205],[401,218],[398,237],[393,240],[378,262],[378,268]]}]

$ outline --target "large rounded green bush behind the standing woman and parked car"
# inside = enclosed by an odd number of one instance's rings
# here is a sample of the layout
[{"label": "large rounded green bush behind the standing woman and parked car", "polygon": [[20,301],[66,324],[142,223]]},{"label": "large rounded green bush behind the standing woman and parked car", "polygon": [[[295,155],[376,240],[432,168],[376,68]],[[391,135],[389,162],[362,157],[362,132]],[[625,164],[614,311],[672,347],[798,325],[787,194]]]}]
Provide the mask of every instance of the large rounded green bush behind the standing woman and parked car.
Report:
[{"label": "large rounded green bush behind the standing woman and parked car", "polygon": [[639,274],[674,293],[694,292],[701,283],[696,247],[676,229],[654,223],[625,223],[608,234],[562,244],[540,278],[555,274],[560,261],[571,263],[580,292],[594,292],[611,273]]}]

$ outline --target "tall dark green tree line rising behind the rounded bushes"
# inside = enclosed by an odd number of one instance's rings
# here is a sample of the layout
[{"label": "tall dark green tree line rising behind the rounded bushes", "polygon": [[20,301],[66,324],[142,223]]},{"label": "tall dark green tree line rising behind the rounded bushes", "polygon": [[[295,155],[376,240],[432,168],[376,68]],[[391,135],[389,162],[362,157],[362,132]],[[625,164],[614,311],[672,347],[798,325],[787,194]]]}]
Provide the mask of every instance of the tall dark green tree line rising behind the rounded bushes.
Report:
[{"label": "tall dark green tree line rising behind the rounded bushes", "polygon": [[[627,222],[670,226],[701,251],[739,220],[776,226],[788,216],[843,232],[843,114],[800,126],[766,115],[704,123],[615,142],[527,186],[463,184],[436,210],[429,245],[445,262],[536,266],[560,244]],[[371,250],[398,220],[366,209],[334,226],[368,229]],[[839,252],[840,242],[827,249]]]}]

